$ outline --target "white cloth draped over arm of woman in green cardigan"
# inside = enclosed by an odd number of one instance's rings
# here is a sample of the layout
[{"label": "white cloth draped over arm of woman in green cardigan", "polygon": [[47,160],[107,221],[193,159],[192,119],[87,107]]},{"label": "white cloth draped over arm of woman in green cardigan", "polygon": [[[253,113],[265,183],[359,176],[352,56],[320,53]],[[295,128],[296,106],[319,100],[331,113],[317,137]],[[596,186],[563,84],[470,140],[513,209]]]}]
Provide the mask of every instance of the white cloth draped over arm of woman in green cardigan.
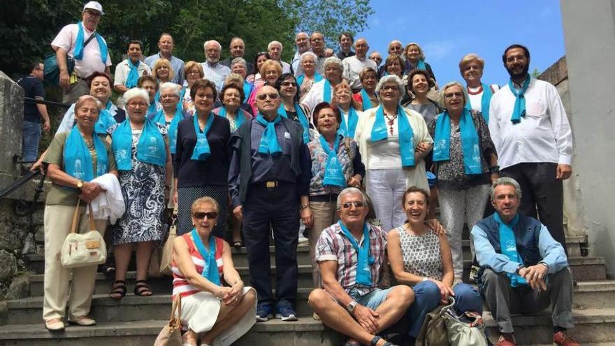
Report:
[{"label": "white cloth draped over arm of woman in green cardigan", "polygon": [[92,212],[94,219],[107,219],[111,224],[115,224],[117,219],[124,215],[126,206],[124,205],[124,197],[122,197],[122,187],[117,177],[111,173],[103,174],[95,178],[91,182],[95,182],[102,187],[105,192],[99,194],[92,203]]}]

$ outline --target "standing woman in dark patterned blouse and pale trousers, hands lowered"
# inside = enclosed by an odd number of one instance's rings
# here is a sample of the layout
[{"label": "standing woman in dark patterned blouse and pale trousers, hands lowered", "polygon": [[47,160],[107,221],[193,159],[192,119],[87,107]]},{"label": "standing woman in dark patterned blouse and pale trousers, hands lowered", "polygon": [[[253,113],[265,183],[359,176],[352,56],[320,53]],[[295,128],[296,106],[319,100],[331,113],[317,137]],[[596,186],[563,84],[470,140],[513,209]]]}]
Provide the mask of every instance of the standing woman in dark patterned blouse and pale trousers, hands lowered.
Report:
[{"label": "standing woman in dark patterned blouse and pale trousers, hands lowered", "polygon": [[483,218],[489,185],[498,179],[498,157],[489,127],[480,113],[465,108],[463,86],[449,82],[442,88],[446,110],[428,124],[433,137],[440,215],[447,229],[455,277],[463,274],[461,233]]}]

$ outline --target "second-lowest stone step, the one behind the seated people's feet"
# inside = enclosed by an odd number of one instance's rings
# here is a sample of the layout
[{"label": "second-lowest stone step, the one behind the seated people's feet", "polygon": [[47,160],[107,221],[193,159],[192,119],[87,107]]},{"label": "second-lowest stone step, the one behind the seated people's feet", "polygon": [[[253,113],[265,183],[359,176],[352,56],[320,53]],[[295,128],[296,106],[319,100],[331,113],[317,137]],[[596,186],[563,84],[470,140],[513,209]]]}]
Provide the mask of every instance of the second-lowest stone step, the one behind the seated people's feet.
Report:
[{"label": "second-lowest stone step, the one behind the seated people's feet", "polygon": [[[311,316],[307,296],[311,288],[297,292],[296,312],[298,316]],[[579,282],[574,287],[574,308],[579,310],[596,308],[615,309],[615,280]],[[35,324],[41,321],[43,297],[6,301],[8,310],[5,324]],[[127,294],[122,300],[114,301],[108,293],[96,294],[92,299],[92,318],[99,322],[138,321],[147,316],[150,319],[164,319],[171,309],[171,294],[155,294],[139,297]],[[486,307],[485,307],[486,309]]]}]

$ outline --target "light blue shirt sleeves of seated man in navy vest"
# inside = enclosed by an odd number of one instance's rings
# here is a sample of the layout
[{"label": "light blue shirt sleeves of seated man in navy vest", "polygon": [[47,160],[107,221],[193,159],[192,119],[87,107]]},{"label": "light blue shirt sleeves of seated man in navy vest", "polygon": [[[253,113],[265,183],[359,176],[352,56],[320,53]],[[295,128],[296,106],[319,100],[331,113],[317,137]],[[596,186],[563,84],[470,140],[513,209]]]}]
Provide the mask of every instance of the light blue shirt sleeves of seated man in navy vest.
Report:
[{"label": "light blue shirt sleeves of seated man in navy vest", "polygon": [[[479,228],[479,226],[474,226],[471,233],[476,258],[480,266],[487,266],[496,273],[516,273],[520,263],[509,260],[505,254],[495,252],[493,246],[489,243],[486,231]],[[542,258],[540,261],[549,266],[549,274],[557,273],[568,266],[564,248],[554,240],[544,224],[541,224],[537,245],[540,257]]]}]

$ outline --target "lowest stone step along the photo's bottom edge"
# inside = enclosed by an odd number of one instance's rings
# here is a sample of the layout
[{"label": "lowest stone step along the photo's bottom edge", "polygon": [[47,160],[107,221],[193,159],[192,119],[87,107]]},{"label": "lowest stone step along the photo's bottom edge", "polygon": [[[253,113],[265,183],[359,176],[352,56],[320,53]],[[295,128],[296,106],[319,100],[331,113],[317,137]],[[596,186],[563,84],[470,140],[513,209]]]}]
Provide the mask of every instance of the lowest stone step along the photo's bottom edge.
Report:
[{"label": "lowest stone step along the photo's bottom edge", "polygon": [[[615,309],[573,310],[576,327],[570,336],[583,345],[614,345]],[[495,322],[489,312],[484,314],[491,339],[497,337]],[[152,345],[165,319],[139,322],[101,322],[92,327],[68,326],[60,333],[50,333],[43,323],[13,324],[0,329],[0,345],[11,346],[72,346],[72,345]],[[540,345],[551,342],[551,317],[548,312],[535,316],[514,316],[515,336],[519,345]],[[271,320],[257,323],[237,340],[236,346],[265,345],[340,345],[342,336],[311,317],[297,322]]]}]

